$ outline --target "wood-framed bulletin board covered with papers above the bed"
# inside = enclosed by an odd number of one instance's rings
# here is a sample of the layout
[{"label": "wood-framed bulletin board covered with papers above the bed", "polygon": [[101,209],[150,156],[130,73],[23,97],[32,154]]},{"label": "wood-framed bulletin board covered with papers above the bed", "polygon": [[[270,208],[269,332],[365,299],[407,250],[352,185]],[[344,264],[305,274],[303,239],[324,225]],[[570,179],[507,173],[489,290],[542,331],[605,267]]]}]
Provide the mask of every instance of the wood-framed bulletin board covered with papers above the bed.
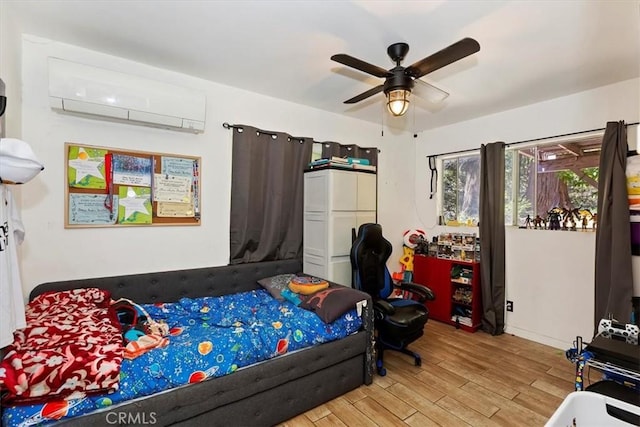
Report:
[{"label": "wood-framed bulletin board covered with papers above the bed", "polygon": [[200,225],[201,158],[65,144],[65,228]]}]

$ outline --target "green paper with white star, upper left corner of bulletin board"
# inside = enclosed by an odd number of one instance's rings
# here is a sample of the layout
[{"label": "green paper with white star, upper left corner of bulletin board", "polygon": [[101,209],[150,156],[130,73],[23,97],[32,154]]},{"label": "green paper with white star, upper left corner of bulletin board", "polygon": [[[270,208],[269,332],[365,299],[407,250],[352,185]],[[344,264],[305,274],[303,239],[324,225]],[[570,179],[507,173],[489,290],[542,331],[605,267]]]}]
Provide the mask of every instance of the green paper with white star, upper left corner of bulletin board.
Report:
[{"label": "green paper with white star, upper left corner of bulletin board", "polygon": [[99,148],[69,146],[67,174],[69,186],[76,188],[107,188],[104,179],[104,156],[107,150]]}]

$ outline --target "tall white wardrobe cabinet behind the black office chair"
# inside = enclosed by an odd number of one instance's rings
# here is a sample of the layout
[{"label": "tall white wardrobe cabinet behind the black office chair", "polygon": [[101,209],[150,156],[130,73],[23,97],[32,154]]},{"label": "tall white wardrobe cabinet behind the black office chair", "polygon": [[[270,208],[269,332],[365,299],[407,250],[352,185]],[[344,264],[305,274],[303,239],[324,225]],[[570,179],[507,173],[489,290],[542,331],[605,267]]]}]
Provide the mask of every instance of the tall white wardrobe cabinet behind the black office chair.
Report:
[{"label": "tall white wardrobe cabinet behind the black office chair", "polygon": [[320,169],[304,174],[304,247],[306,274],[351,286],[352,230],[376,222],[376,175]]}]

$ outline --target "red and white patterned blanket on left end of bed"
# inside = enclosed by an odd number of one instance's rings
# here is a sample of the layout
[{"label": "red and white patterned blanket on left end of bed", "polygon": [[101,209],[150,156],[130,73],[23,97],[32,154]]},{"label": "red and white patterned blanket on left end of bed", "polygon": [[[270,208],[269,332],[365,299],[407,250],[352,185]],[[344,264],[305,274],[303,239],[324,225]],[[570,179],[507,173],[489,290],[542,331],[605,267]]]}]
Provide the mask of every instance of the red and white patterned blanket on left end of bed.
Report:
[{"label": "red and white patterned blanket on left end of bed", "polygon": [[123,343],[110,294],[47,292],[27,305],[27,327],[0,363],[3,401],[34,402],[118,388]]}]

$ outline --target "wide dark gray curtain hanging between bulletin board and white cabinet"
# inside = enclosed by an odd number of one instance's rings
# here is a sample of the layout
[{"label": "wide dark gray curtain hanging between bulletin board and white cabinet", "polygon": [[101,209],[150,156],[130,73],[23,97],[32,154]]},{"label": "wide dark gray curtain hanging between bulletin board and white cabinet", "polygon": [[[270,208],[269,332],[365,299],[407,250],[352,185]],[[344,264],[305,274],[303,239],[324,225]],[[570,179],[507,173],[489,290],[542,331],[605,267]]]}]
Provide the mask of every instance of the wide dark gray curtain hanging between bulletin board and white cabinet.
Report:
[{"label": "wide dark gray curtain hanging between bulletin board and white cabinet", "polygon": [[312,139],[244,125],[232,132],[230,263],[302,258]]}]

